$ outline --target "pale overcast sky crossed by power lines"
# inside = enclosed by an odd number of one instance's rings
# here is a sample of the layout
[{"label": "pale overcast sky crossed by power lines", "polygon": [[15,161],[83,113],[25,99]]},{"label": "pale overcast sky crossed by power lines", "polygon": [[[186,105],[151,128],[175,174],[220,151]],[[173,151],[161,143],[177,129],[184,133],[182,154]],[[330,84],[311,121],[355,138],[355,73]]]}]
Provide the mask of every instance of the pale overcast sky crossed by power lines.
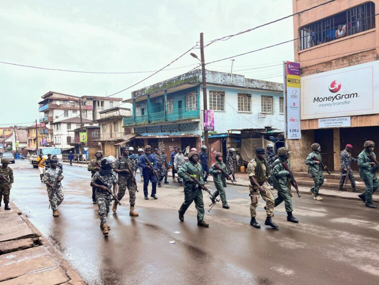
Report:
[{"label": "pale overcast sky crossed by power lines", "polygon": [[[291,0],[202,1],[5,1],[0,2],[0,61],[54,69],[137,72],[160,69],[199,41],[253,28],[292,14]],[[293,39],[292,19],[219,41],[204,50],[205,62]],[[199,50],[193,51],[199,55]],[[233,73],[282,82],[283,60],[293,44],[236,57]],[[185,55],[169,68],[118,95],[188,72],[197,61]],[[207,65],[230,72],[230,60]],[[256,69],[257,67],[262,67]],[[37,102],[48,91],[105,96],[151,73],[80,74],[0,64],[0,125],[38,119]],[[27,125],[27,124],[24,124]]]}]

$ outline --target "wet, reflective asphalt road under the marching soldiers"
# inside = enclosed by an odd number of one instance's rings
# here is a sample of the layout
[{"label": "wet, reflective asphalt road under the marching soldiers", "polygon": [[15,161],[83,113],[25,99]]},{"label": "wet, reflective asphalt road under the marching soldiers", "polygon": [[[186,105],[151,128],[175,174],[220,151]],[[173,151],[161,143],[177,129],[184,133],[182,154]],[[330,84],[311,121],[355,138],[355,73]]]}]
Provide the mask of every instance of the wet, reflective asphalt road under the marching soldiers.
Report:
[{"label": "wet, reflective asphalt road under the marching soldiers", "polygon": [[[273,217],[279,229],[274,230],[264,226],[260,200],[257,221],[262,228],[254,229],[249,225],[248,190],[228,185],[230,209],[217,204],[205,211],[210,227],[200,228],[193,205],[184,222],[178,220],[183,191],[176,183],[169,180],[168,186],[157,188],[159,199],[148,201],[138,184],[139,217],[128,215],[124,197],[117,213],[108,215],[111,230],[104,238],[86,168],[64,166],[65,198],[60,217],[54,218],[38,170],[27,161],[11,167],[13,202],[90,284],[379,283],[379,209],[358,201],[294,197],[300,223],[287,222],[280,205]],[[205,195],[204,201],[207,210]]]}]

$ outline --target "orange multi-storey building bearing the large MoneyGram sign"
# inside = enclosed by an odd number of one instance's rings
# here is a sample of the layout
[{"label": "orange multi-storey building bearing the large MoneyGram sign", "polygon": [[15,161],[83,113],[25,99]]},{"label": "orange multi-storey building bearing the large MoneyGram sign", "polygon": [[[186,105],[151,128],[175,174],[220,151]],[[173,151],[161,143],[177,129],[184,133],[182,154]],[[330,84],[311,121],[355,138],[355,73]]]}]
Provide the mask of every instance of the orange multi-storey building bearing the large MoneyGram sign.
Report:
[{"label": "orange multi-storey building bearing the large MoneyGram sign", "polygon": [[[293,13],[325,1],[292,0]],[[306,171],[310,145],[340,170],[340,151],[356,157],[365,140],[379,141],[379,1],[335,1],[293,17],[294,61],[300,63],[301,140],[287,140],[291,165]],[[356,163],[352,164],[356,170]]]}]

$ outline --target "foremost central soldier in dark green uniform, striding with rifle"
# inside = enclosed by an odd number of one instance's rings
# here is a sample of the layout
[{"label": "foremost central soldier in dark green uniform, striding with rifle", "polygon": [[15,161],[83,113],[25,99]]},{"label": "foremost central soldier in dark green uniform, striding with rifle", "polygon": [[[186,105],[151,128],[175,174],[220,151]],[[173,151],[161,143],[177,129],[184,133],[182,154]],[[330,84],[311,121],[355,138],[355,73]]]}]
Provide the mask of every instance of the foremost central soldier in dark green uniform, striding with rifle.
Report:
[{"label": "foremost central soldier in dark green uniform, striding with rifle", "polygon": [[[190,176],[186,175],[185,172]],[[197,184],[194,184],[191,179],[191,177],[195,177],[201,184],[204,184],[203,172],[200,163],[198,163],[198,154],[196,152],[188,154],[188,161],[179,168],[177,175],[184,180],[184,202],[179,209],[179,220],[184,221],[184,213],[194,201],[197,210],[197,225],[203,227],[209,226],[204,221],[204,202],[202,200],[201,188]]]}]

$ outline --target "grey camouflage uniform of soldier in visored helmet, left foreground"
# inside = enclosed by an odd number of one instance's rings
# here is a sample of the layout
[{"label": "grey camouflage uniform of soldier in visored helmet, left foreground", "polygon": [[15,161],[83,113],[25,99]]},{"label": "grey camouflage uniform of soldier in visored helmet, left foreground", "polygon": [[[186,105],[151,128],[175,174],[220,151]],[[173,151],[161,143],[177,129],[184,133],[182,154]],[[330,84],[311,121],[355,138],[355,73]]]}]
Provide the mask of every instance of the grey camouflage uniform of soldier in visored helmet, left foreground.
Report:
[{"label": "grey camouflage uniform of soldier in visored helmet, left foreground", "polygon": [[[99,172],[96,172],[93,174],[91,182],[96,183],[97,178],[100,178],[111,190],[113,183],[117,181],[117,176],[113,171],[111,171],[110,175],[101,175]],[[106,215],[109,212],[109,204],[112,200],[112,196],[108,191],[104,191],[99,188],[95,188],[95,196],[98,206],[98,214],[100,216],[100,223],[104,224],[106,223]]]}]

